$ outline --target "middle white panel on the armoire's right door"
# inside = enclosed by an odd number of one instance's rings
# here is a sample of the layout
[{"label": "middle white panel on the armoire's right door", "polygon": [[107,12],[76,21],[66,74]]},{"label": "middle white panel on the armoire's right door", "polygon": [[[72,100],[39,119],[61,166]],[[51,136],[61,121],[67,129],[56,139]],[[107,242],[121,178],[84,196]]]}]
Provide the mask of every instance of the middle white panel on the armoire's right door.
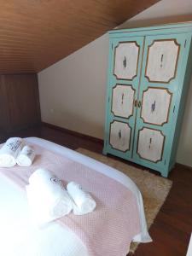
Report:
[{"label": "middle white panel on the armoire's right door", "polygon": [[148,87],[143,91],[141,118],[144,123],[164,125],[169,119],[172,93],[165,88]]}]

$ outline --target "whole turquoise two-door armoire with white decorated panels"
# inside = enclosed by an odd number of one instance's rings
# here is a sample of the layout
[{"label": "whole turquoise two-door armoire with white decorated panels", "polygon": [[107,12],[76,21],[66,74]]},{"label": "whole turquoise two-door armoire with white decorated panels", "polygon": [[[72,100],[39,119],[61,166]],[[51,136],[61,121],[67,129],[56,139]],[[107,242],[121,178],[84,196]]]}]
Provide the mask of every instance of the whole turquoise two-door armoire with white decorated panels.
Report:
[{"label": "whole turquoise two-door armoire with white decorated panels", "polygon": [[167,177],[192,67],[192,22],[109,32],[103,154]]}]

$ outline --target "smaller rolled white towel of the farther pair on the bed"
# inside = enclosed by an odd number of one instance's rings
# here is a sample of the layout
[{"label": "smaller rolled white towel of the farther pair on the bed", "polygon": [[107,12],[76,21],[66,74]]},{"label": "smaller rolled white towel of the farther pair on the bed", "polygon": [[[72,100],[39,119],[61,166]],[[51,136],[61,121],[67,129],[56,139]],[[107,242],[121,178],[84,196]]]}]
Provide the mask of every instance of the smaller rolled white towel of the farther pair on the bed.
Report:
[{"label": "smaller rolled white towel of the farther pair on the bed", "polygon": [[35,151],[32,147],[25,146],[18,154],[16,163],[18,166],[31,166],[35,158]]}]

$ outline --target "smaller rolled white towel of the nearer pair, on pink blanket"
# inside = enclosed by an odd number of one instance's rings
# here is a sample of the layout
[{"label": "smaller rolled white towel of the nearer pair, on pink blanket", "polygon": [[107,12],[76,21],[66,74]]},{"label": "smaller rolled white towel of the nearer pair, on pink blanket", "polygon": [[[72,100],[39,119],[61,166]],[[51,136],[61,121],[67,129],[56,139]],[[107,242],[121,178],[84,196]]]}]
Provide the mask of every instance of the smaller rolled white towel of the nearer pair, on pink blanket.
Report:
[{"label": "smaller rolled white towel of the nearer pair, on pink blanket", "polygon": [[96,201],[94,201],[91,195],[85,192],[78,183],[68,183],[67,191],[73,198],[73,213],[75,215],[93,212],[96,208]]}]

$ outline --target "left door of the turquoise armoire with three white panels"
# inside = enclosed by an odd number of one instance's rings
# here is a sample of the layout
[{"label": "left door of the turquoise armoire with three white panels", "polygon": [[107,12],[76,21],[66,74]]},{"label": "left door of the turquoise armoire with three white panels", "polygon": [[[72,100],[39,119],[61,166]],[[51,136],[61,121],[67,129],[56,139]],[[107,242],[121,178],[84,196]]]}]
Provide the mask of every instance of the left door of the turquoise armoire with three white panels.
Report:
[{"label": "left door of the turquoise armoire with three white panels", "polygon": [[143,37],[110,42],[104,153],[131,158]]}]

